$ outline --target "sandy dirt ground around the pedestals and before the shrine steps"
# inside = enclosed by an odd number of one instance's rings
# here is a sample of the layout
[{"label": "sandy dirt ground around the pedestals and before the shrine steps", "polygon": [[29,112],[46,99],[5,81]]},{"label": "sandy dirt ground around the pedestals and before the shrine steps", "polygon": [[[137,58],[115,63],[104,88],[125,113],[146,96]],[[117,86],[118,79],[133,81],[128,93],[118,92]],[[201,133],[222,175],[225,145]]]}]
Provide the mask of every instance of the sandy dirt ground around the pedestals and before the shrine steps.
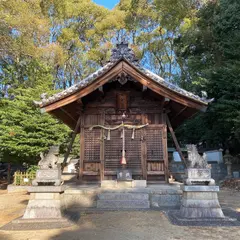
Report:
[{"label": "sandy dirt ground around the pedestals and before the shrine steps", "polygon": [[[29,196],[0,191],[0,225],[23,214]],[[222,205],[240,212],[240,193],[222,191]],[[1,240],[237,240],[240,227],[179,227],[157,211],[103,212],[83,214],[70,228],[38,231],[0,231]]]}]

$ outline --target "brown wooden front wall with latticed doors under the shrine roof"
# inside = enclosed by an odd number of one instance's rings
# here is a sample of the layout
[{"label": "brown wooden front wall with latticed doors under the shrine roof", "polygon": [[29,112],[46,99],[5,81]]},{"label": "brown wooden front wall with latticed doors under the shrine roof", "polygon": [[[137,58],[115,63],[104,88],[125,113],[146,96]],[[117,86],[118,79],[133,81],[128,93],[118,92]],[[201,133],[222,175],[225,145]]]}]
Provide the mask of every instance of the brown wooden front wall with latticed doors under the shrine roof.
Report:
[{"label": "brown wooden front wall with latticed doors under the shrine roof", "polygon": [[121,168],[122,130],[108,133],[105,129],[90,128],[94,125],[115,127],[121,124],[125,112],[126,124],[149,124],[135,131],[125,130],[126,167],[132,170],[134,179],[165,181],[167,128],[163,107],[159,108],[164,99],[151,100],[147,92],[142,92],[142,86],[134,82],[124,85],[111,82],[103,91],[104,95],[96,95],[95,101],[86,99],[80,135],[80,159],[83,159],[80,176],[83,180],[116,178],[117,169]]}]

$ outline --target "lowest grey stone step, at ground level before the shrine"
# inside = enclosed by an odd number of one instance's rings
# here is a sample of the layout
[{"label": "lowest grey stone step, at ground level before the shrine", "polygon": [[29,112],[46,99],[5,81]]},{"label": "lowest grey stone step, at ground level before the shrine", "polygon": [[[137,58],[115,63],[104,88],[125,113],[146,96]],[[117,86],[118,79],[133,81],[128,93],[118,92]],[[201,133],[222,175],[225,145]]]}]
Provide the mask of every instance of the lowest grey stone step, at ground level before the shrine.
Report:
[{"label": "lowest grey stone step, at ground level before the shrine", "polygon": [[97,208],[105,209],[148,209],[148,200],[98,200]]}]

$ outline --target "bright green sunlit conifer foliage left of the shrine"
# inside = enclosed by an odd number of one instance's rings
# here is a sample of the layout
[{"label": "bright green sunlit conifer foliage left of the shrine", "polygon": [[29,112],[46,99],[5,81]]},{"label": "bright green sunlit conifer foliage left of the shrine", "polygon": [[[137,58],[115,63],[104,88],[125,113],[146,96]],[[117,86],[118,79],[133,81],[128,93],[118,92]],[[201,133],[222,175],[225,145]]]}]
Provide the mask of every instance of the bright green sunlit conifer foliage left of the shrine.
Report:
[{"label": "bright green sunlit conifer foliage left of the shrine", "polygon": [[0,99],[0,152],[5,161],[36,163],[41,152],[61,144],[68,135],[65,125],[48,114],[41,114],[33,104],[39,93],[52,84],[48,68],[43,65],[38,68],[35,61],[28,64],[33,66],[25,69],[23,83],[13,79],[13,86],[17,87],[8,90],[9,97]]}]

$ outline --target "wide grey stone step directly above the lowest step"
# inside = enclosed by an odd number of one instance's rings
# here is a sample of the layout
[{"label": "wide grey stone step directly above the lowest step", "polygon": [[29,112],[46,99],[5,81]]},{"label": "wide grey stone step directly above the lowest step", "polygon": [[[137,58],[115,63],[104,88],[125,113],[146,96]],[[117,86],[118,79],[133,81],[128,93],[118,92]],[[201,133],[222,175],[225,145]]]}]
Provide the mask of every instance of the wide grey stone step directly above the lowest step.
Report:
[{"label": "wide grey stone step directly above the lowest step", "polygon": [[101,193],[99,200],[149,200],[147,193]]}]

